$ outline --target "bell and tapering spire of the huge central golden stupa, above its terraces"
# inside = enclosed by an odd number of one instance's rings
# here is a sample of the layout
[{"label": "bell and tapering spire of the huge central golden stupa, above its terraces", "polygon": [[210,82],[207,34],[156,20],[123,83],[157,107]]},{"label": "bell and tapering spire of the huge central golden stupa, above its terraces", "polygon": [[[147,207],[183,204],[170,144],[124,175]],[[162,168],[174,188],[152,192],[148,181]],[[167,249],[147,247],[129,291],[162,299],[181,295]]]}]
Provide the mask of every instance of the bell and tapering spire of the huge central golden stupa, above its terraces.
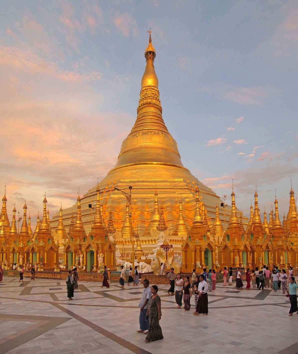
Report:
[{"label": "bell and tapering spire of the huge central golden stupa, above its terraces", "polygon": [[132,164],[174,166],[185,169],[176,141],[170,135],[162,118],[158,79],[153,65],[155,56],[150,33],[149,44],[145,51],[146,68],[141,80],[138,116],[128,137],[123,140],[117,164],[109,174]]}]

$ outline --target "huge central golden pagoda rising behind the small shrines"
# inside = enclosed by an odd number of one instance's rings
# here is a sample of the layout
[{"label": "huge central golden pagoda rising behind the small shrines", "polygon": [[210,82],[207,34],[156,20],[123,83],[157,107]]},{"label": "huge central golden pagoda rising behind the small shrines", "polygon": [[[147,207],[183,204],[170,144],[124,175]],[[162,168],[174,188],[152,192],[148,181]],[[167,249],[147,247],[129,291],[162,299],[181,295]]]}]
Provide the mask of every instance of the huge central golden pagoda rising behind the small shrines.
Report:
[{"label": "huge central golden pagoda rising behind the small shrines", "polygon": [[[132,198],[135,202],[132,223],[139,222],[140,241],[144,251],[148,253],[157,245],[154,242],[157,238],[156,227],[159,222],[157,194],[164,200],[165,223],[168,225],[169,235],[173,234],[175,240],[187,237],[196,208],[193,187],[197,178],[183,166],[177,143],[163,120],[158,78],[154,68],[155,58],[156,51],[150,35],[145,50],[146,67],[141,79],[135,124],[122,142],[116,166],[99,182],[104,203],[111,205],[112,215],[115,217],[117,242],[120,242],[120,245],[127,245],[128,253],[130,246],[128,244],[127,201],[121,193],[115,190],[115,187],[124,192],[129,191],[130,185],[133,187]],[[209,232],[215,218],[218,196],[199,181],[198,188],[204,197],[201,213],[206,232]],[[80,201],[82,211],[84,211],[82,221],[86,232],[89,232],[91,228],[91,210],[88,205],[92,203],[97,193],[96,189],[97,186],[91,188]],[[183,211],[180,210],[177,222],[176,200],[180,197],[181,200],[187,201],[184,204],[184,213],[187,217],[184,217]],[[71,211],[72,208],[63,210],[66,229],[70,227]],[[227,217],[229,214],[230,207],[227,207]],[[220,215],[220,218],[223,221],[223,215]],[[51,220],[51,227],[55,228],[58,221],[59,213],[56,213]],[[179,249],[178,246],[174,248]]]}]

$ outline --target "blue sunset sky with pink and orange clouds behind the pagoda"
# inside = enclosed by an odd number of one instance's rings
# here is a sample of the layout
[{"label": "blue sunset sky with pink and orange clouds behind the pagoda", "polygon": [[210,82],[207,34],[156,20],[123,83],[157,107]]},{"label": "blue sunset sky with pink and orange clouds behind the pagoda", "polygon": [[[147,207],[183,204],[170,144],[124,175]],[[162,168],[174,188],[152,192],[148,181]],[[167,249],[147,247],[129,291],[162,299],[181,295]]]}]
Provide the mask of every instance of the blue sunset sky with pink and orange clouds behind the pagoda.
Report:
[{"label": "blue sunset sky with pink and orange clouds behind the pagoda", "polygon": [[[0,194],[50,216],[114,167],[151,27],[181,160],[249,215],[298,195],[297,1],[1,1]],[[2,191],[2,192],[1,192]]]}]

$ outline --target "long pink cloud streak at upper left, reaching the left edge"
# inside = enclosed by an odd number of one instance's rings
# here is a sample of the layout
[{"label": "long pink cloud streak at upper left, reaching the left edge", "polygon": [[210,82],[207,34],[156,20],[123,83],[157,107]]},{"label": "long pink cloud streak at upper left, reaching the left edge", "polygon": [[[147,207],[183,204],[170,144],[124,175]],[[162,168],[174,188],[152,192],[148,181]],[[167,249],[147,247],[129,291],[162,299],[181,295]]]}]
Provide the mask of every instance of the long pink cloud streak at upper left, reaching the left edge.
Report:
[{"label": "long pink cloud streak at upper left, reaching the left edge", "polygon": [[0,64],[13,67],[20,71],[29,71],[34,74],[44,74],[67,82],[82,82],[98,80],[99,72],[74,72],[62,70],[57,64],[47,61],[30,50],[20,50],[15,47],[0,47]]}]

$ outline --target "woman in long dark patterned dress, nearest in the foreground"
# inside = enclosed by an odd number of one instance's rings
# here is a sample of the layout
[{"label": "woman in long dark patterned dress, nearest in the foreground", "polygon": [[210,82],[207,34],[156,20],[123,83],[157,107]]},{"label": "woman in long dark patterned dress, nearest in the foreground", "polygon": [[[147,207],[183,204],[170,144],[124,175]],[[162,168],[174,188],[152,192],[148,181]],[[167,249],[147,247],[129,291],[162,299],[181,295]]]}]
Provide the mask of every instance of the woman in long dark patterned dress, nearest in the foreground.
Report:
[{"label": "woman in long dark patterned dress, nearest in the foreground", "polygon": [[157,295],[158,287],[156,285],[151,286],[152,296],[149,300],[149,306],[147,309],[147,316],[149,318],[149,329],[145,342],[159,341],[163,339],[163,332],[159,325],[159,321],[162,318],[162,309],[160,297]]}]

